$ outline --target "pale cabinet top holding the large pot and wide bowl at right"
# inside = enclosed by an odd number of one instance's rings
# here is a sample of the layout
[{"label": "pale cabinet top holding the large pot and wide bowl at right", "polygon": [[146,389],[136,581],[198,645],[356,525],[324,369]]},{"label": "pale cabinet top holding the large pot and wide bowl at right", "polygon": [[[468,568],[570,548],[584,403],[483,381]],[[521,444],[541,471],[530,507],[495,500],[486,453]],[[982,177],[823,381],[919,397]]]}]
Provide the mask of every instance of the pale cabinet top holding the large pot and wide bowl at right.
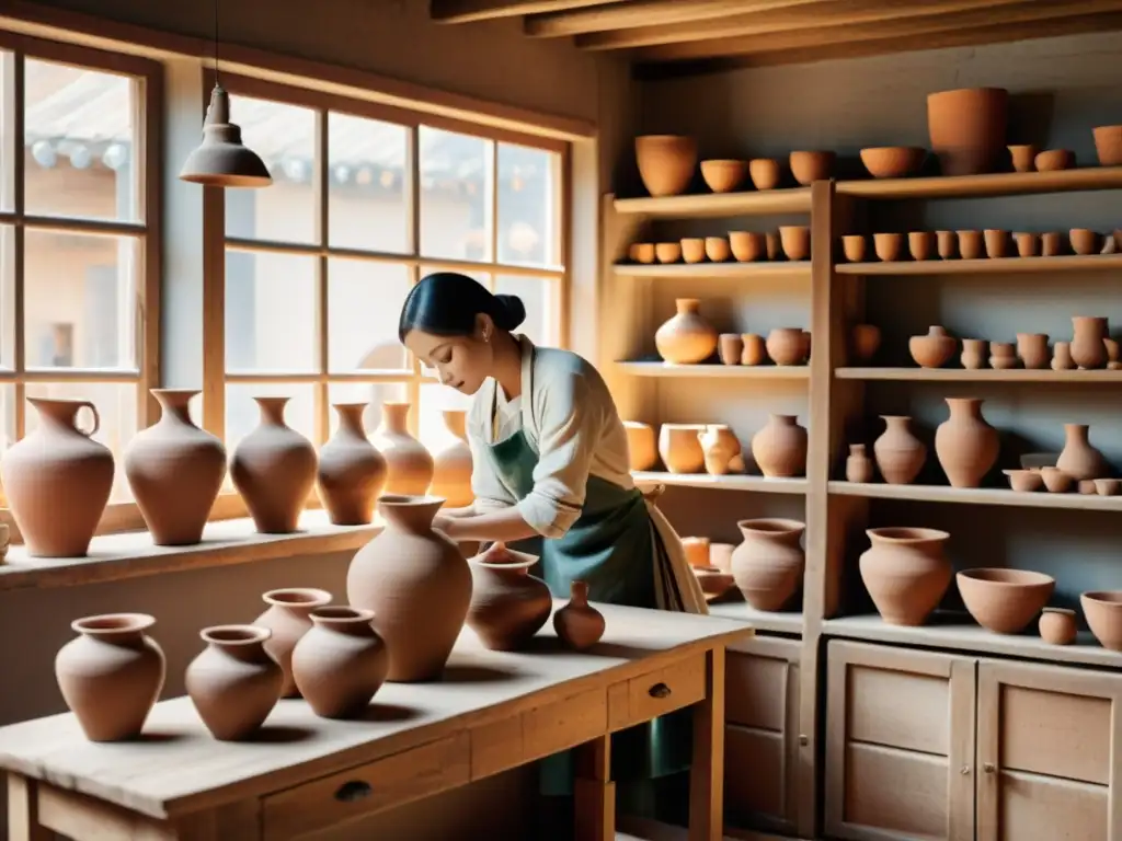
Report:
[{"label": "pale cabinet top holding the large pot and wide bowl at right", "polygon": [[1036,635],[1036,626],[1024,635],[994,634],[974,623],[966,613],[936,614],[928,625],[909,628],[886,625],[880,616],[827,619],[822,632],[831,637],[927,646],[955,651],[1003,654],[1049,663],[1080,663],[1088,666],[1122,667],[1122,654],[1103,648],[1087,631],[1069,646],[1054,646]]}]

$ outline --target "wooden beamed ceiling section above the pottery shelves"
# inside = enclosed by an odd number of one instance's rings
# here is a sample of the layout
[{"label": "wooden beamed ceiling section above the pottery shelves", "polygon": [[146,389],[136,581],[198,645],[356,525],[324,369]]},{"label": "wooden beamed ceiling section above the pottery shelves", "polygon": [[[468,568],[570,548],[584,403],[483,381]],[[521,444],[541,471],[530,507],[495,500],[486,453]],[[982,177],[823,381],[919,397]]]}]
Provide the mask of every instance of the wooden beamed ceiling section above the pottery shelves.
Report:
[{"label": "wooden beamed ceiling section above the pottery shelves", "polygon": [[430,16],[521,18],[660,76],[1122,29],[1122,0],[430,0]]}]

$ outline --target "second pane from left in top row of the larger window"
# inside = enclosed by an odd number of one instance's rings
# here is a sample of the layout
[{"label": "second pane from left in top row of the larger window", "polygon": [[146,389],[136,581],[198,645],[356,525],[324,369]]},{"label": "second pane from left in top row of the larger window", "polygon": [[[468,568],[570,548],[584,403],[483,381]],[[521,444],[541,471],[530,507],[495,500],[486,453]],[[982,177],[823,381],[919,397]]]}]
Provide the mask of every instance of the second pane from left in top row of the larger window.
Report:
[{"label": "second pane from left in top row of the larger window", "polygon": [[328,230],[334,248],[407,253],[408,129],[328,114]]}]

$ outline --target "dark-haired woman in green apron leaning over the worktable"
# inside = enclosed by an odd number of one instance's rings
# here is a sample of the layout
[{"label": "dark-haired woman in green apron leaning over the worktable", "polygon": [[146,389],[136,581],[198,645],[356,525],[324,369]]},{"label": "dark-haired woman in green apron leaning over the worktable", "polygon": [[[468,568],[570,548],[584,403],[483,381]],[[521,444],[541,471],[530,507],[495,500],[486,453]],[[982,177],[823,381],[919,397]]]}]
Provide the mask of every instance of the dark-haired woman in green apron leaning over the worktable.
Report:
[{"label": "dark-haired woman in green apron leaning over the worktable", "polygon": [[[402,308],[402,342],[441,382],[475,396],[475,502],[442,510],[436,527],[463,542],[541,538],[537,574],[557,598],[581,580],[592,601],[707,612],[681,542],[632,481],[627,434],[600,375],[576,353],[514,334],[525,314],[516,296],[454,272],[425,277]],[[654,786],[641,780],[688,769],[682,712],[613,738],[613,779],[627,800],[651,798]],[[543,794],[570,794],[571,776],[571,755],[550,757]]]}]

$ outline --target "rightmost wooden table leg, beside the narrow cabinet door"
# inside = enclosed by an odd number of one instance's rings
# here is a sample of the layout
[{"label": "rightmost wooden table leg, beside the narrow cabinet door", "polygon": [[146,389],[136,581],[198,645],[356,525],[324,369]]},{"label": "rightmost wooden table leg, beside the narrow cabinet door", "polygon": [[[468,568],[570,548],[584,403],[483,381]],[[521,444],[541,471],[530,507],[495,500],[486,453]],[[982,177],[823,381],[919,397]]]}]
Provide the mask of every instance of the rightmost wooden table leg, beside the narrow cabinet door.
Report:
[{"label": "rightmost wooden table leg, beside the narrow cabinet door", "polygon": [[725,812],[725,649],[706,657],[706,696],[693,706],[689,841],[720,841]]}]

